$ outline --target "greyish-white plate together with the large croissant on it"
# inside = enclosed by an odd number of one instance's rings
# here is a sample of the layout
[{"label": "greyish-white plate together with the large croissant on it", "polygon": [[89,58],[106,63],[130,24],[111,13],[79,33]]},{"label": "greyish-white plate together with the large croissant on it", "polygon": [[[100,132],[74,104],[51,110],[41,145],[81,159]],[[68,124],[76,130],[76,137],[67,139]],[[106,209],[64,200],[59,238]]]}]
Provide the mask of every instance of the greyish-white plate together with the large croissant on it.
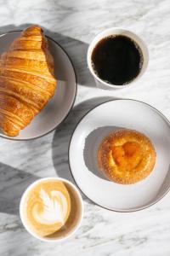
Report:
[{"label": "greyish-white plate together with the large croissant on it", "polygon": [[0,136],[42,137],[70,112],[77,79],[69,56],[40,26],[0,36]]}]

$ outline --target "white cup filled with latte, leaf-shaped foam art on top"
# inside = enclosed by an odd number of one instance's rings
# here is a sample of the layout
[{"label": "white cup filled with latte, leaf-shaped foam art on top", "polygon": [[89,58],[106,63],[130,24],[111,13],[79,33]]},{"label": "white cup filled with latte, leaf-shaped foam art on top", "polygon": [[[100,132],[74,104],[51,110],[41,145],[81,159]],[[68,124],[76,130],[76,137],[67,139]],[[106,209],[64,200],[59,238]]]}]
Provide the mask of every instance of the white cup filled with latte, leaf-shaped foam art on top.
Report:
[{"label": "white cup filled with latte, leaf-shaped foam art on top", "polygon": [[40,179],[26,189],[20,217],[32,236],[61,240],[77,229],[82,219],[82,197],[76,187],[58,178]]}]

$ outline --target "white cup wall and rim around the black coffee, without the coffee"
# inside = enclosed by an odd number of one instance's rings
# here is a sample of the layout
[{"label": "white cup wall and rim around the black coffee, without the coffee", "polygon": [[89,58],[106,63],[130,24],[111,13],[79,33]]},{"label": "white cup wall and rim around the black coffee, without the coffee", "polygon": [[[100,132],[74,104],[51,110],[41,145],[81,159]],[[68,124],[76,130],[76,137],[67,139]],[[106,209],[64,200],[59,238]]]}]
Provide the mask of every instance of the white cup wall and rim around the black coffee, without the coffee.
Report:
[{"label": "white cup wall and rim around the black coffee, without the coffee", "polygon": [[[95,46],[101,41],[103,38],[109,37],[109,36],[115,36],[115,35],[122,35],[122,36],[127,36],[128,38],[131,38],[134,42],[136,42],[139,45],[139,48],[142,51],[143,55],[143,65],[141,67],[141,70],[139,72],[139,75],[134,78],[131,82],[128,84],[124,85],[116,85],[116,84],[109,84],[105,82],[104,80],[100,79],[99,76],[94,72],[94,67],[92,63],[92,53],[95,48]],[[92,43],[88,47],[88,55],[87,55],[87,61],[88,61],[88,68],[92,75],[94,76],[94,80],[96,83],[96,86],[100,89],[105,89],[105,90],[112,90],[112,89],[122,89],[122,88],[127,88],[127,86],[134,84],[145,72],[147,66],[148,66],[148,61],[149,61],[149,53],[148,49],[146,47],[146,44],[144,44],[144,41],[139,38],[137,34],[134,32],[131,32],[127,29],[120,28],[120,27],[112,27],[109,29],[106,29],[103,32],[100,32],[92,41]]]}]

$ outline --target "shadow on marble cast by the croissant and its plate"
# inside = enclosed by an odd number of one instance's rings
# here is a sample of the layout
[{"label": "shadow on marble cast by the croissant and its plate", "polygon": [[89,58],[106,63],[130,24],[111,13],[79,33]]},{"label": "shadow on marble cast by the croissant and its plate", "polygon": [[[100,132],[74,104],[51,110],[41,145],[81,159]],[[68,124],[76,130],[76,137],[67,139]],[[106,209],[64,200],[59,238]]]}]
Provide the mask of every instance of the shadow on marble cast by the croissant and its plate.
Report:
[{"label": "shadow on marble cast by the croissant and its plate", "polygon": [[[23,30],[27,26],[31,25],[32,24],[22,24],[20,26],[14,26],[13,24],[11,24],[8,26],[1,26],[0,34],[3,34],[3,32],[9,32],[14,30]],[[58,42],[66,50],[67,54],[71,57],[72,64],[75,67],[75,71],[77,73],[77,83],[83,86],[96,87],[94,78],[88,70],[88,44],[79,41],[75,38],[67,37],[61,33],[49,31],[43,26],[42,28],[45,34],[48,37],[53,38],[56,42]]]}]

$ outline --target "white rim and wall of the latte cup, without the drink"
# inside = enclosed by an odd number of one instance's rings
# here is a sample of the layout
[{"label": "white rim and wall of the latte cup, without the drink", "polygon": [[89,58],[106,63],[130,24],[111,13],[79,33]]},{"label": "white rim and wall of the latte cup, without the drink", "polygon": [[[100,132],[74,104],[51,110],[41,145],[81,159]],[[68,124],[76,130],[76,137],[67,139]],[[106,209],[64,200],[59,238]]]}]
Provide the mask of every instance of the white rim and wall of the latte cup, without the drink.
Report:
[{"label": "white rim and wall of the latte cup, without the drink", "polygon": [[[72,228],[72,230],[70,230],[70,232],[68,234],[66,234],[65,236],[61,236],[61,237],[53,237],[53,238],[49,238],[49,237],[40,237],[37,236],[37,234],[31,230],[31,227],[29,224],[27,224],[26,222],[26,216],[24,214],[24,207],[26,207],[26,196],[28,195],[28,193],[31,191],[31,189],[37,185],[38,183],[41,183],[42,181],[48,181],[48,180],[57,180],[57,181],[61,181],[67,185],[70,186],[71,191],[75,194],[75,196],[77,197],[77,203],[78,203],[78,207],[79,207],[79,216],[77,218],[77,222],[74,224],[74,227]],[[82,196],[80,194],[80,192],[78,191],[77,187],[71,183],[70,181],[61,178],[61,177],[44,177],[44,178],[40,178],[38,179],[36,182],[31,183],[31,185],[26,189],[26,191],[24,192],[24,194],[21,197],[20,200],[20,219],[22,221],[22,224],[24,225],[25,229],[31,234],[31,236],[34,236],[35,238],[39,239],[40,241],[65,241],[66,239],[68,239],[69,237],[73,236],[73,234],[75,234],[75,232],[78,230],[78,228],[80,227],[81,223],[82,223],[82,217],[83,217],[83,201],[82,201]]]}]

